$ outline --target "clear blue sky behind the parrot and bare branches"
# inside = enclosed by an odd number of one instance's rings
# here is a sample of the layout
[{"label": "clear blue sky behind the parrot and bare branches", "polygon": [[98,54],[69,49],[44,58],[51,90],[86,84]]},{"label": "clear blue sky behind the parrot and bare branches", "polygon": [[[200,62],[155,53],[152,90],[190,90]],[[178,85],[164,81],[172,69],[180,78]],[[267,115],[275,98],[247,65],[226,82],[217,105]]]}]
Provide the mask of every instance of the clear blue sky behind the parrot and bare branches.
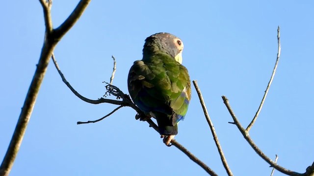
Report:
[{"label": "clear blue sky behind the parrot and bare branches", "polygon": [[[78,0],[54,0],[54,27]],[[155,1],[154,1],[155,2]],[[132,63],[142,58],[146,37],[170,32],[183,40],[183,65],[198,80],[217,135],[235,176],[268,176],[271,168],[246,143],[221,95],[247,126],[282,55],[262,112],[250,131],[269,157],[296,172],[314,161],[314,1],[196,0],[153,3],[148,0],[93,0],[77,24],[55,48],[64,75],[82,95],[97,99],[109,81],[111,55],[117,59],[114,85],[127,93]],[[0,159],[4,156],[44,39],[38,0],[0,6]],[[205,176],[207,173],[159,134],[135,111],[123,108],[95,124],[116,106],[79,100],[48,67],[11,176]],[[176,139],[219,176],[226,175],[195,89]],[[274,176],[283,176],[278,171]]]}]

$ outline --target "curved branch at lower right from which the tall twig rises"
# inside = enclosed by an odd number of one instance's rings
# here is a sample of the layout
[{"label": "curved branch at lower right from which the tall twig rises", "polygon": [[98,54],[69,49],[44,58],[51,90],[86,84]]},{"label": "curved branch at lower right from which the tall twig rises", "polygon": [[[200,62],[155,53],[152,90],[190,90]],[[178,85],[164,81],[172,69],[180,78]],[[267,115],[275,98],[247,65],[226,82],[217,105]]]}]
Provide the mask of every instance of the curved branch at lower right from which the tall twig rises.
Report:
[{"label": "curved branch at lower right from which the tall twig rises", "polygon": [[237,120],[234,111],[231,109],[231,106],[229,104],[229,100],[227,99],[227,97],[226,96],[222,96],[222,99],[223,99],[224,104],[226,105],[227,109],[229,110],[229,113],[231,114],[232,118],[234,119],[236,127],[242,133],[242,135],[245,138],[245,140],[250,144],[250,146],[253,148],[253,150],[257,154],[259,154],[268,164],[270,164],[270,166],[274,167],[278,171],[280,171],[280,172],[282,172],[284,174],[287,174],[289,176],[310,176],[309,173],[310,174],[314,173],[314,170],[310,170],[310,171],[307,170],[307,172],[304,173],[304,174],[300,174],[300,173],[297,173],[297,172],[290,171],[290,170],[288,170],[288,169],[278,165],[273,160],[271,160],[268,156],[266,156],[266,154],[264,154],[262,152],[262,150],[260,148],[258,148],[258,146],[253,142],[253,140],[249,136],[249,133],[247,131],[245,131],[245,129],[240,124],[240,122]]}]

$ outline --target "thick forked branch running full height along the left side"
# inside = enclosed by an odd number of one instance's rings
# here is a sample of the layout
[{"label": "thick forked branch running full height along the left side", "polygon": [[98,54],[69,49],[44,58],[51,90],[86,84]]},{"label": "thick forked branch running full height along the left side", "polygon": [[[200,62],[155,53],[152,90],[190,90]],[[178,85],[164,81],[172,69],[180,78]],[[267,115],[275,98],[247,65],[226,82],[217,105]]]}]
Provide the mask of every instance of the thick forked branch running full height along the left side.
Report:
[{"label": "thick forked branch running full height along the left side", "polygon": [[[70,30],[70,28],[78,21],[81,14],[84,12],[90,0],[80,0],[78,6],[72,12],[70,17],[58,29],[52,28],[51,7],[52,0],[39,0],[44,11],[44,21],[46,26],[44,44],[41,50],[40,58],[28,88],[23,108],[21,110],[18,122],[12,135],[10,144],[4,155],[0,165],[0,176],[8,176],[13,166],[14,160],[19,152],[22,140],[29,122],[32,110],[34,108],[37,95],[41,83],[46,74],[52,51],[56,44],[61,40],[62,36]],[[57,34],[57,35],[54,35]]]}]

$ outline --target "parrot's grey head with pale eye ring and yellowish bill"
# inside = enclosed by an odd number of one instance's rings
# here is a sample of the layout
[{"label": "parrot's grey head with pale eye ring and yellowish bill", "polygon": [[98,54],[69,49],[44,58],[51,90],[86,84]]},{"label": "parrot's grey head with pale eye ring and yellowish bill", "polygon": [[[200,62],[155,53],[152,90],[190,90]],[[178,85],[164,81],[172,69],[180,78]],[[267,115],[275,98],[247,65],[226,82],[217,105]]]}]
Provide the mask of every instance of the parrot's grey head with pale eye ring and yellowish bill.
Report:
[{"label": "parrot's grey head with pale eye ring and yellowish bill", "polygon": [[149,36],[145,40],[143,55],[155,52],[165,52],[182,64],[183,42],[178,37],[161,32]]}]

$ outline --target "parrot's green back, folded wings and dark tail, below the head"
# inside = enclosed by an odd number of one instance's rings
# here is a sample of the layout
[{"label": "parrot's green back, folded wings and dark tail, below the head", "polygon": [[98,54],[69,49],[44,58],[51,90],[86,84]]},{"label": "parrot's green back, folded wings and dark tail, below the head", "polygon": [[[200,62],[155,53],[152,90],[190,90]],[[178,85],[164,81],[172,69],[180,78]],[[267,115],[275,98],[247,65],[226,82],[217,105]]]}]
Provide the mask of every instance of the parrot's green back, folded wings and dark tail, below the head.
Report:
[{"label": "parrot's green back, folded wings and dark tail, below the head", "polygon": [[132,100],[157,119],[160,134],[177,134],[191,98],[187,69],[167,54],[157,53],[135,61],[128,87]]}]

